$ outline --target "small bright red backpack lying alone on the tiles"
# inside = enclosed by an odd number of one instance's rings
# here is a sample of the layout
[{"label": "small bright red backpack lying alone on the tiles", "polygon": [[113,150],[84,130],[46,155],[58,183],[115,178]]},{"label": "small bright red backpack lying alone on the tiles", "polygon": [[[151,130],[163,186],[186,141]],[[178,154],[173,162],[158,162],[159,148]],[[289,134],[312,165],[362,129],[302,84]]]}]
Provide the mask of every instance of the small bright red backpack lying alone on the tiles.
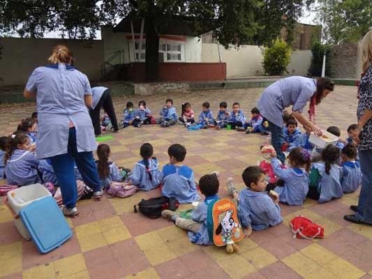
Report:
[{"label": "small bright red backpack lying alone on the tiles", "polygon": [[324,227],[303,216],[297,216],[290,220],[290,229],[294,239],[315,239],[315,237],[325,236]]}]

